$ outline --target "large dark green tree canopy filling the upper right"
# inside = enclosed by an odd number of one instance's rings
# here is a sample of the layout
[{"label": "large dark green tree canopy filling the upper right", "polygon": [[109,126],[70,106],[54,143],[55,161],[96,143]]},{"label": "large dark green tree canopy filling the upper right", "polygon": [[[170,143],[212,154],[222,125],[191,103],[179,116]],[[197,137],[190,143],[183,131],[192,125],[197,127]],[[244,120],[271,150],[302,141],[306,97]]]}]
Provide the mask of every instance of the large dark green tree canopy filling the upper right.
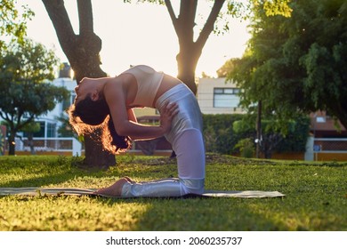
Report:
[{"label": "large dark green tree canopy filling the upper right", "polygon": [[347,127],[347,2],[292,1],[291,17],[258,3],[248,50],[228,76],[245,90],[241,104],[283,121],[324,109]]}]

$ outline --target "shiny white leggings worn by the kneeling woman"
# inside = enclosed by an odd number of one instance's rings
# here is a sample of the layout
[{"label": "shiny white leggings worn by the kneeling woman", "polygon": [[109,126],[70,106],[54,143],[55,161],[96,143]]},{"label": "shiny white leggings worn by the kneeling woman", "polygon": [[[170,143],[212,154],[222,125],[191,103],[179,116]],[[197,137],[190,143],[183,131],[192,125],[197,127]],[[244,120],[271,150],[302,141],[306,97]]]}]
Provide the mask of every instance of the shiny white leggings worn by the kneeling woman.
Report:
[{"label": "shiny white leggings worn by the kneeling woman", "polygon": [[176,153],[179,178],[125,183],[123,197],[180,197],[204,192],[205,146],[198,101],[185,84],[173,87],[157,100],[159,112],[166,101],[179,107],[170,133],[165,134]]}]

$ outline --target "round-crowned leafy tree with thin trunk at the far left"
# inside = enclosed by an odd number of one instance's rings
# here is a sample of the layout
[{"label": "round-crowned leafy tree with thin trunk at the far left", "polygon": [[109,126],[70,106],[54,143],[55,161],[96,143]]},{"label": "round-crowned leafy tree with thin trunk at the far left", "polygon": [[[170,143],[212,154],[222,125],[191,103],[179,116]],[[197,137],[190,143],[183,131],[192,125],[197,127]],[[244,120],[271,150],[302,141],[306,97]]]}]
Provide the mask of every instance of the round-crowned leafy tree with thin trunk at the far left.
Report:
[{"label": "round-crowned leafy tree with thin trunk at the far left", "polygon": [[44,83],[54,78],[57,63],[52,51],[31,40],[11,44],[1,51],[0,116],[10,133],[9,155],[15,153],[16,133],[36,116],[52,110],[57,101],[67,98],[69,92],[65,88]]}]

